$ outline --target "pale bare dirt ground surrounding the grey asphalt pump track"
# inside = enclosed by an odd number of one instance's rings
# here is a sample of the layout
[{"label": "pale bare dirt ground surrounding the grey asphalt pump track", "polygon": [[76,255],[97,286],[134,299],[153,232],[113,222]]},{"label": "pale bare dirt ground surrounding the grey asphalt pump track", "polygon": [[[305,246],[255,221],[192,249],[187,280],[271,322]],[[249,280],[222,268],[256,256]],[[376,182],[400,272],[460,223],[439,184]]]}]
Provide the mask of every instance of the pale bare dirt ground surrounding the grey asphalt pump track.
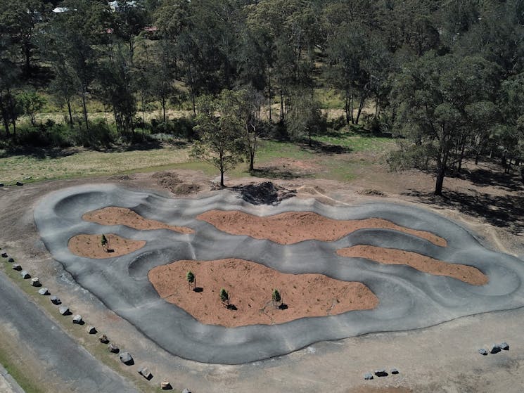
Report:
[{"label": "pale bare dirt ground surrounding the grey asphalt pump track", "polygon": [[[336,157],[334,157],[336,159]],[[445,197],[434,198],[430,174],[409,171],[387,172],[383,165],[362,167],[359,179],[348,183],[323,179],[279,180],[298,189],[298,198],[316,198],[330,205],[353,205],[367,200],[410,205],[423,204],[429,210],[468,228],[480,242],[494,250],[524,256],[524,187],[516,174],[506,176],[492,163],[476,166],[466,162],[462,176],[445,180]],[[214,181],[202,172],[177,171],[184,181],[200,183],[209,193]],[[227,180],[229,186],[255,181],[253,178]],[[260,179],[262,181],[262,179]],[[243,366],[219,366],[185,361],[172,356],[144,337],[127,321],[108,310],[98,299],[75,283],[41,244],[32,219],[39,198],[67,186],[110,182],[108,178],[45,181],[0,189],[1,247],[23,261],[65,304],[82,312],[84,319],[131,352],[141,366],[153,372],[151,392],[162,378],[170,378],[176,389],[192,392],[335,392],[335,393],[520,393],[524,385],[524,344],[521,331],[524,309],[459,318],[433,328],[376,333],[336,342],[319,342],[287,356]],[[170,195],[151,180],[151,174],[133,174],[120,186],[151,189]],[[384,196],[364,195],[374,190]],[[50,316],[56,318],[56,316]],[[41,361],[17,343],[10,326],[1,326],[11,354],[17,362],[42,381],[57,380],[46,375]],[[8,340],[7,340],[8,339]],[[3,339],[0,338],[0,342]],[[477,349],[506,341],[509,352],[480,356]],[[78,341],[83,344],[82,340]],[[397,376],[364,381],[363,374],[377,368],[396,367]],[[115,362],[120,373],[128,368]],[[136,370],[133,370],[136,374]],[[69,391],[74,387],[67,387]]]}]

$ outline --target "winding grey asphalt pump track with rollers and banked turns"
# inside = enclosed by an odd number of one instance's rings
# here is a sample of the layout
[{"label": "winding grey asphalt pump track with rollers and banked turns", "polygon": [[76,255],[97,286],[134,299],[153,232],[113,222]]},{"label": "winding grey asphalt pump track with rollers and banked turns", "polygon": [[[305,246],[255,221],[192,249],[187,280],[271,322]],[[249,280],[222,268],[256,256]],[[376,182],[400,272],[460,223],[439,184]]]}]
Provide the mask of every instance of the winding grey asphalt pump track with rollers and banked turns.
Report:
[{"label": "winding grey asphalt pump track with rollers and banked turns", "polygon": [[[189,226],[195,233],[183,235],[165,229],[137,231],[82,220],[82,214],[108,206],[129,207],[147,219]],[[213,209],[241,210],[259,216],[312,211],[333,219],[377,217],[433,232],[446,238],[448,245],[438,247],[388,229],[362,229],[330,243],[307,240],[279,245],[229,235],[196,220],[198,214]],[[316,200],[291,198],[278,206],[254,206],[229,191],[203,199],[172,199],[112,185],[89,185],[47,195],[35,209],[34,219],[46,247],[80,285],[167,351],[205,363],[246,363],[287,354],[321,340],[424,328],[460,316],[524,306],[523,261],[487,250],[452,221],[403,205],[369,203],[331,207]],[[89,259],[68,250],[68,240],[81,233],[116,233],[124,238],[147,240],[147,244],[123,257]],[[336,255],[336,250],[357,244],[395,247],[475,266],[487,274],[490,282],[477,287],[408,266]],[[360,281],[376,294],[380,304],[373,310],[301,318],[280,325],[224,328],[199,323],[160,299],[147,278],[154,266],[179,259],[229,257],[248,259],[284,273],[322,273],[338,280]]]}]

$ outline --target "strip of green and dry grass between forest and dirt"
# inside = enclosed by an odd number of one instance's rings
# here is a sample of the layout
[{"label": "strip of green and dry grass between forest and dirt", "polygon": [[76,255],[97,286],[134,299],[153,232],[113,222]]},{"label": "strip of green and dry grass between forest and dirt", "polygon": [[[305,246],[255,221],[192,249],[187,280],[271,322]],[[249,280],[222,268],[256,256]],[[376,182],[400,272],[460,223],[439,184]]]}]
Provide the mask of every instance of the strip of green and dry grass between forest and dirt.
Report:
[{"label": "strip of green and dry grass between forest and dirt", "polygon": [[[306,160],[317,165],[317,170],[309,176],[348,181],[354,178],[355,169],[369,164],[367,159],[357,159],[354,153],[369,153],[369,159],[376,160],[394,147],[395,141],[390,138],[349,132],[316,136],[312,148],[302,143],[264,140],[257,150],[255,167],[269,165],[282,158]],[[0,150],[0,182],[9,185],[16,181],[27,183],[167,169],[196,169],[208,175],[217,174],[217,169],[211,165],[192,160],[189,152],[190,147],[183,143],[179,146],[139,147],[111,152],[70,148],[9,155]],[[238,178],[250,176],[250,173],[246,163],[242,163],[227,175]]]}]

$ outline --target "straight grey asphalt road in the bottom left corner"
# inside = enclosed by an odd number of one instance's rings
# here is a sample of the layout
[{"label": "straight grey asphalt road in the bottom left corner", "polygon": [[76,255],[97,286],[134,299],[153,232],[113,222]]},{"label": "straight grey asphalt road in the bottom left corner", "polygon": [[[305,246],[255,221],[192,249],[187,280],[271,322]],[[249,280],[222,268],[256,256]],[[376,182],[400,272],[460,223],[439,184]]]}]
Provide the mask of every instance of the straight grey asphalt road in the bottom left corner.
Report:
[{"label": "straight grey asphalt road in the bottom left corner", "polygon": [[[34,303],[28,302],[20,288],[3,273],[0,273],[0,310],[0,323],[15,329],[18,340],[30,347],[30,352],[44,365],[46,373],[56,375],[57,382],[69,384],[69,390],[138,392],[124,378],[79,347]],[[45,385],[41,388],[47,391]]]}]

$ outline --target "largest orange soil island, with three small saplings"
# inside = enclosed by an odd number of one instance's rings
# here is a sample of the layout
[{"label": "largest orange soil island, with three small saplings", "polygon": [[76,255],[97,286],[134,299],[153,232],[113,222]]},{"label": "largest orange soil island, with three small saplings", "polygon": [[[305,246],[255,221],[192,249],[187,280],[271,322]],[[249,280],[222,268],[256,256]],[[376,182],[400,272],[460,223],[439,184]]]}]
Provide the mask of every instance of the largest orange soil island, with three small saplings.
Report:
[{"label": "largest orange soil island, with three small saplings", "polygon": [[[196,289],[186,273],[196,276]],[[148,278],[160,297],[203,323],[226,327],[274,324],[305,316],[327,316],[373,309],[378,299],[362,283],[338,281],[321,274],[286,274],[242,259],[177,261],[151,269]],[[219,299],[224,288],[226,308]],[[273,304],[274,289],[283,304]]]}]

